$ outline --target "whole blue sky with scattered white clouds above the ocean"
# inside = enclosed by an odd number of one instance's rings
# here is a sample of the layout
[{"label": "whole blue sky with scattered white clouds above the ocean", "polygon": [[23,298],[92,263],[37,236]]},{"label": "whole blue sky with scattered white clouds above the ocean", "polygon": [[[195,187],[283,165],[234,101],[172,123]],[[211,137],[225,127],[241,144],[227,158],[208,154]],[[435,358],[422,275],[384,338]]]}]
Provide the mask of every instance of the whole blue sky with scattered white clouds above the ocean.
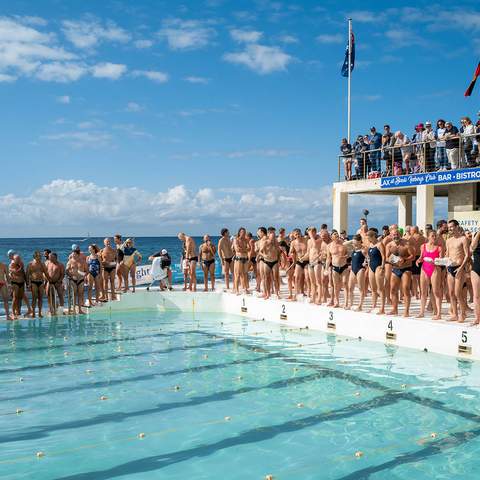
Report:
[{"label": "whole blue sky with scattered white clouds above the ocean", "polygon": [[480,107],[478,2],[390,5],[0,0],[0,237],[331,224],[347,18],[353,135]]}]

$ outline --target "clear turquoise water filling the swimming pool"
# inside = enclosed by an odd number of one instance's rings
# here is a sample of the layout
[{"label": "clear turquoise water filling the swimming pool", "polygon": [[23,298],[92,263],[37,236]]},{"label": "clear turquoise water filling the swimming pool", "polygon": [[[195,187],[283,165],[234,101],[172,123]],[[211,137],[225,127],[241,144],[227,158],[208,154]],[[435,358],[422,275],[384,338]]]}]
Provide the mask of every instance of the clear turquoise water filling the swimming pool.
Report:
[{"label": "clear turquoise water filling the swimming pool", "polygon": [[4,323],[0,478],[476,478],[479,380],[225,314]]}]

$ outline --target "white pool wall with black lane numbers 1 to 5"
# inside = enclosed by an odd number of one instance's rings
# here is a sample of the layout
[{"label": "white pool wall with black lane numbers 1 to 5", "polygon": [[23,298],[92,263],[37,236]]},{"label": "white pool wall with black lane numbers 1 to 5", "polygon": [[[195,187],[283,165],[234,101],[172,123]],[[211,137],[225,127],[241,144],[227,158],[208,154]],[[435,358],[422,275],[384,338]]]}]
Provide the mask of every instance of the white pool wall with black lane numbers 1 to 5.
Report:
[{"label": "white pool wall with black lane numbers 1 to 5", "polygon": [[256,320],[282,323],[347,337],[410,347],[461,358],[480,360],[480,329],[469,324],[403,318],[353,312],[311,305],[306,302],[263,300],[252,295],[225,292],[147,292],[122,295],[118,302],[96,308],[95,312],[154,309],[181,312],[224,312]]}]

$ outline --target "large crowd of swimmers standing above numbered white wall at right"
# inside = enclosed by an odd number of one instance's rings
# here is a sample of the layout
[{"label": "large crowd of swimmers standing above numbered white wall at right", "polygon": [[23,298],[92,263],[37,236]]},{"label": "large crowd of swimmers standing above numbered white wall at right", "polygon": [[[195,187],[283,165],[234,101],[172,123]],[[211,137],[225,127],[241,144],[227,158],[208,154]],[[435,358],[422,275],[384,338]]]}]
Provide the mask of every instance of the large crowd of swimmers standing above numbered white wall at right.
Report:
[{"label": "large crowd of swimmers standing above numbered white wall at right", "polygon": [[[318,305],[361,311],[371,297],[370,311],[410,316],[412,297],[420,300],[418,317],[465,322],[474,305],[474,325],[480,323],[480,231],[473,235],[456,220],[441,220],[436,229],[370,228],[362,218],[352,239],[327,225],[288,233],[260,227],[256,237],[240,228],[235,236],[221,231],[218,245],[209,236],[198,247],[191,236],[183,242],[184,290],[196,291],[197,263],[204,272],[204,289],[215,288],[218,256],[225,288],[236,294],[259,292],[281,297],[287,283],[288,300],[308,297]],[[230,276],[232,275],[232,280]],[[448,305],[448,310],[446,309]]]}]

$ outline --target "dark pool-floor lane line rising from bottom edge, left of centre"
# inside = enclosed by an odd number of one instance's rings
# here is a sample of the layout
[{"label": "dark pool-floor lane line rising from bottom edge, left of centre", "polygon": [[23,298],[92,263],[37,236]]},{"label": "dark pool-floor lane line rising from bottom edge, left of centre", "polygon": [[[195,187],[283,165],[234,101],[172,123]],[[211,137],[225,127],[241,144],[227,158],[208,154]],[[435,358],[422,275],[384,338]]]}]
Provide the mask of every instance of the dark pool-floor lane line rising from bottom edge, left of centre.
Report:
[{"label": "dark pool-floor lane line rising from bottom edge, left of centre", "polygon": [[[152,455],[137,460],[131,460],[120,465],[105,469],[89,471],[57,477],[55,480],[107,480],[121,475],[145,473],[158,471],[170,465],[186,462],[197,457],[208,457],[221,450],[238,447],[241,445],[255,444],[264,442],[284,433],[293,433],[305,428],[311,428],[324,422],[343,420],[360,413],[365,413],[372,408],[388,406],[396,403],[396,395],[382,395],[366,402],[348,405],[344,408],[310,415],[298,419],[288,420],[286,422],[253,428],[238,433],[232,437],[227,437],[214,443],[202,443],[196,447],[177,450],[160,455]],[[148,437],[146,437],[148,438]]]}]

